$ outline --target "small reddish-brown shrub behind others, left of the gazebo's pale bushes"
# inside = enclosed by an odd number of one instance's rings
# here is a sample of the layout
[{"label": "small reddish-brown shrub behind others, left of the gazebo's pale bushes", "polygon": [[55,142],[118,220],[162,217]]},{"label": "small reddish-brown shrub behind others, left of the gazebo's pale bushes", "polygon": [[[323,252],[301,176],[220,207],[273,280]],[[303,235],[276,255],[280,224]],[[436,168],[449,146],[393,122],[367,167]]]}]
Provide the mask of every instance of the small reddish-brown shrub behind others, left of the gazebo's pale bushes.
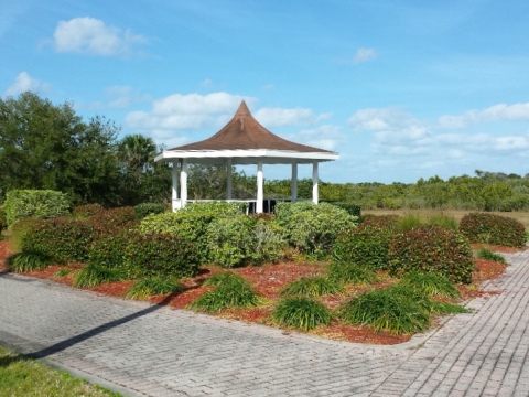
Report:
[{"label": "small reddish-brown shrub behind others, left of the gazebo's pale bushes", "polygon": [[87,219],[100,236],[116,235],[139,225],[131,206],[109,208],[91,215]]}]

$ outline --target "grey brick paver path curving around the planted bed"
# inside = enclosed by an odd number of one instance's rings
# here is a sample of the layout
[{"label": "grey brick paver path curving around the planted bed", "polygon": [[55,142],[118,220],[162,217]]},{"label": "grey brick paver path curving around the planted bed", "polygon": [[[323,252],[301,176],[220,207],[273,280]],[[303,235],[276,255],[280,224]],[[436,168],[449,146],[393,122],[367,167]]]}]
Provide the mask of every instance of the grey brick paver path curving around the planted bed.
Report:
[{"label": "grey brick paver path curving around the planted bed", "polygon": [[[0,342],[148,396],[529,396],[529,251],[438,332],[332,342],[0,275]],[[101,380],[101,382],[102,382]]]}]

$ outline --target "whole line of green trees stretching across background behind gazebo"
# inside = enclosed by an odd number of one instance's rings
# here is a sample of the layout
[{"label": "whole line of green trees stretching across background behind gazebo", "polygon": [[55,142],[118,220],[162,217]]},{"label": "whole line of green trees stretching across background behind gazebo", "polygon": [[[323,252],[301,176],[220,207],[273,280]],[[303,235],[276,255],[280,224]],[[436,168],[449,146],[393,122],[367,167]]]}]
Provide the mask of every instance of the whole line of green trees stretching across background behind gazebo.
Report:
[{"label": "whole line of green trees stretching across background behind gazebo", "polygon": [[[102,116],[89,120],[73,104],[54,105],[26,92],[0,99],[0,203],[15,189],[56,190],[74,204],[108,207],[169,203],[172,164],[155,163],[164,148],[142,135],[118,139],[120,128]],[[257,179],[233,168],[234,198],[255,198]],[[227,170],[191,164],[190,198],[222,200]],[[312,196],[312,180],[298,182],[300,198]],[[289,198],[290,179],[266,180],[267,198]],[[417,183],[320,182],[320,198],[363,208],[454,208],[528,211],[529,174],[476,170],[475,175],[433,176]]]}]

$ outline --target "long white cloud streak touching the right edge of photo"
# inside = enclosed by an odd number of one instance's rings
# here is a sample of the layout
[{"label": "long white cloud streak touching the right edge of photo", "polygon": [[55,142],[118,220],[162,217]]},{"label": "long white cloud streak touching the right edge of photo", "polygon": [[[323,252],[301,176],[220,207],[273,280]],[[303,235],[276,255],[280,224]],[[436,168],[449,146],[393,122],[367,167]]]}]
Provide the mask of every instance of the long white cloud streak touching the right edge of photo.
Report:
[{"label": "long white cloud streak touching the right edge of photo", "polygon": [[468,110],[460,116],[441,116],[440,128],[465,128],[471,125],[490,121],[529,120],[529,103],[526,104],[498,104],[483,110]]}]

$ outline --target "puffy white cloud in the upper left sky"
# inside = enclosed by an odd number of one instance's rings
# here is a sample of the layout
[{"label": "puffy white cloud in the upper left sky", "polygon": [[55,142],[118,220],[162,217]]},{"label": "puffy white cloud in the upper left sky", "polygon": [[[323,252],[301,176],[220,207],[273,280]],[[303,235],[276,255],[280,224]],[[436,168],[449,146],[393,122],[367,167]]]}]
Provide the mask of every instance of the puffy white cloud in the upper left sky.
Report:
[{"label": "puffy white cloud in the upper left sky", "polygon": [[147,43],[147,39],[130,30],[122,31],[100,20],[84,17],[58,22],[54,43],[57,52],[122,56],[132,54],[133,47]]}]

